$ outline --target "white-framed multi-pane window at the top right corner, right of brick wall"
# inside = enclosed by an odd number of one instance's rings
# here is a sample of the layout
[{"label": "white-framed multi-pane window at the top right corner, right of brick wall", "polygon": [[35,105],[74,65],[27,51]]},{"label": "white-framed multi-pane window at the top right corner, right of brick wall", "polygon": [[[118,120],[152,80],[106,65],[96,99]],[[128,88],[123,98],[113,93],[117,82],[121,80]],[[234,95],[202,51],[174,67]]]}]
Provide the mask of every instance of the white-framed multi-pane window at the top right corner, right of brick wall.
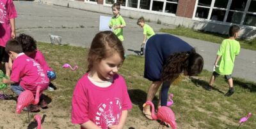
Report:
[{"label": "white-framed multi-pane window at the top right corner, right of brick wall", "polygon": [[197,0],[194,18],[256,27],[256,0]]}]

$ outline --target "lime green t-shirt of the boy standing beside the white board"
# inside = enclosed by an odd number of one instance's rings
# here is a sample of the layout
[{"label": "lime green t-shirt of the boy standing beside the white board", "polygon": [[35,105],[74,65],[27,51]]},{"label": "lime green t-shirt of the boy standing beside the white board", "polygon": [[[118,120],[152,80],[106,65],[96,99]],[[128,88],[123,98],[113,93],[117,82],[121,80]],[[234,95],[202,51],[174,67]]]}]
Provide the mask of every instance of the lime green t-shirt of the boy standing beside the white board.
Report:
[{"label": "lime green t-shirt of the boy standing beside the white board", "polygon": [[[121,15],[119,15],[118,17],[112,17],[109,22],[109,26],[111,26],[112,28],[115,27],[116,25],[126,25],[124,18]],[[113,32],[118,37],[118,39],[120,39],[120,41],[124,41],[122,28],[113,29]]]}]

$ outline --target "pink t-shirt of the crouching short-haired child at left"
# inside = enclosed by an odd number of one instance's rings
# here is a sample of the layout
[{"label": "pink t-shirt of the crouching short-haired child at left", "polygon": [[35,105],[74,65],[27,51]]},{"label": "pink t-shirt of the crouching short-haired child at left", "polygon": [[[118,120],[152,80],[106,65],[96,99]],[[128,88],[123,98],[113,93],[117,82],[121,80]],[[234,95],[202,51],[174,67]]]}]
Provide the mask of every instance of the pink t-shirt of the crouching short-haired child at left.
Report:
[{"label": "pink t-shirt of the crouching short-haired child at left", "polygon": [[47,78],[46,71],[33,58],[24,53],[19,53],[13,61],[10,79],[15,83],[20,83],[24,90],[30,90],[34,95],[37,86],[41,86],[40,93],[49,86],[49,78]]}]

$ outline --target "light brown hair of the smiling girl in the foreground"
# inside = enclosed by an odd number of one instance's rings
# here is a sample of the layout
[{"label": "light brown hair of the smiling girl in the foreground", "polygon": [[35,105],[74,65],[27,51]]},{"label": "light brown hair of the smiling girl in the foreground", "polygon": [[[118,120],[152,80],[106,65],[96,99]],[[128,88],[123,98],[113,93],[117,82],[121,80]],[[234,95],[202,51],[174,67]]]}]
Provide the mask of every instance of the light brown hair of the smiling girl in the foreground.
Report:
[{"label": "light brown hair of the smiling girl in the foreground", "polygon": [[92,44],[88,53],[88,70],[92,70],[93,64],[96,61],[100,61],[104,58],[108,58],[113,53],[118,53],[124,62],[124,47],[122,41],[116,37],[116,35],[111,31],[102,31],[95,35],[92,40]]}]

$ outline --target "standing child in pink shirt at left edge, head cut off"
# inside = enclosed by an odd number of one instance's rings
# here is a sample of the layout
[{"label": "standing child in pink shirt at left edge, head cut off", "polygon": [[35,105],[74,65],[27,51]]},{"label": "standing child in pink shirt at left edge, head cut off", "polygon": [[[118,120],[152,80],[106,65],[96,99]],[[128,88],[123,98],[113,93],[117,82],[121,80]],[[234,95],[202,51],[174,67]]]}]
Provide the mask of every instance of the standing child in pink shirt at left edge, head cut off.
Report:
[{"label": "standing child in pink shirt at left edge, head cut off", "polygon": [[6,76],[10,77],[11,70],[8,67],[9,56],[4,47],[9,39],[14,39],[15,18],[17,12],[12,0],[0,0],[0,62],[5,63]]}]

